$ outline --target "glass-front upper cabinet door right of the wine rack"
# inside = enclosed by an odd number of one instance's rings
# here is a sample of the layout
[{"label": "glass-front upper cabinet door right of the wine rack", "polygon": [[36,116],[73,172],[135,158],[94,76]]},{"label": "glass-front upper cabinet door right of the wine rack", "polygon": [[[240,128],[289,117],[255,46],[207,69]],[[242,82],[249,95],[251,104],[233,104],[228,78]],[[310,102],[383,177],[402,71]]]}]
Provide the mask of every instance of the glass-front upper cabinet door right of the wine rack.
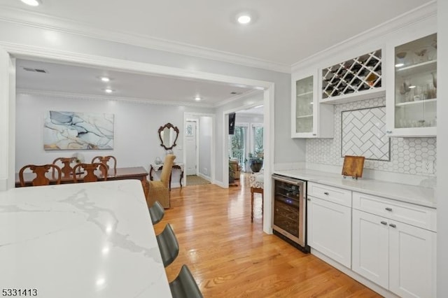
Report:
[{"label": "glass-front upper cabinet door right of the wine rack", "polygon": [[435,136],[437,127],[437,34],[389,48],[386,92],[389,136]]}]

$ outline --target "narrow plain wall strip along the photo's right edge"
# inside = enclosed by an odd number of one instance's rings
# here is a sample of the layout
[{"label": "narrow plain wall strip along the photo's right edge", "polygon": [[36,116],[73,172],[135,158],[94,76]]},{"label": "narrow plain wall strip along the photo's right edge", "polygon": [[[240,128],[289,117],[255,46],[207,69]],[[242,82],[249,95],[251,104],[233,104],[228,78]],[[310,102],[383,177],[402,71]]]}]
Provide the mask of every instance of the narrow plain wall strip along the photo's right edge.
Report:
[{"label": "narrow plain wall strip along the photo's right edge", "polygon": [[437,6],[437,297],[448,297],[448,1]]}]

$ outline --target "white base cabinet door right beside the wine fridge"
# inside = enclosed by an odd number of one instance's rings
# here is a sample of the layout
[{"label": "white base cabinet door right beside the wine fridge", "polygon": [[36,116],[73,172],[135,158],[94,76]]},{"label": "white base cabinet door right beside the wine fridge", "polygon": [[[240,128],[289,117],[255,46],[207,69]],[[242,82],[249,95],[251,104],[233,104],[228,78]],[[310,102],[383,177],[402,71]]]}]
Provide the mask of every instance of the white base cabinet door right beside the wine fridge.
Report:
[{"label": "white base cabinet door right beside the wine fridge", "polygon": [[351,208],[308,198],[308,245],[351,267]]}]

